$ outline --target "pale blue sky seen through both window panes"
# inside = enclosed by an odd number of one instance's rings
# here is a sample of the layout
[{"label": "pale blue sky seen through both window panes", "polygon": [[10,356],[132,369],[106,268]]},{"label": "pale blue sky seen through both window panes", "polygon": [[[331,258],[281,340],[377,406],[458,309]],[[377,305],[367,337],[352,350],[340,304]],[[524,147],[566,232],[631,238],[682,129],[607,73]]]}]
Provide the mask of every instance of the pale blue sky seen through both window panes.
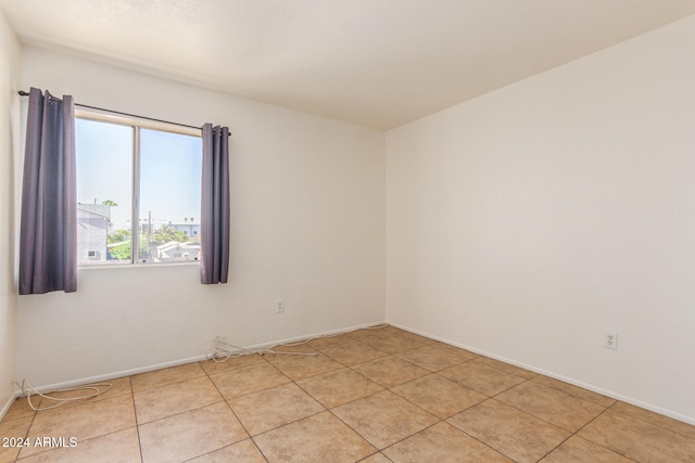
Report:
[{"label": "pale blue sky seen through both window panes", "polygon": [[[132,128],[76,120],[77,202],[111,200],[114,228],[129,228],[132,191]],[[141,129],[140,218],[200,223],[200,137]]]}]

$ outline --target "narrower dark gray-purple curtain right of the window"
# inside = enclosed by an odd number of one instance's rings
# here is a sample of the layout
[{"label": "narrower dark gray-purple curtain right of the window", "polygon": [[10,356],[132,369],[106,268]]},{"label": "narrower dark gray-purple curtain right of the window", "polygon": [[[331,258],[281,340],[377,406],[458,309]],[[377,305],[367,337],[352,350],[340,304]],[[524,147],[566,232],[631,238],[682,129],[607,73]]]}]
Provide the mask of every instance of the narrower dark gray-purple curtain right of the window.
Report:
[{"label": "narrower dark gray-purple curtain right of the window", "polygon": [[201,194],[203,284],[227,283],[229,269],[229,128],[203,126]]}]

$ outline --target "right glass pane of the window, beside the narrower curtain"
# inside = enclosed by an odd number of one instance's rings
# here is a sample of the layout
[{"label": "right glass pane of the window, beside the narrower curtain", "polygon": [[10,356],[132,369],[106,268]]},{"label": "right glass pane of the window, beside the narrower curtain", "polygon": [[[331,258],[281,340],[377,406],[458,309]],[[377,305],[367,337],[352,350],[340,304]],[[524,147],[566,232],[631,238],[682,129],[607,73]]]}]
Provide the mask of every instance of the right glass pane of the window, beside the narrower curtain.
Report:
[{"label": "right glass pane of the window, beside the narrower curtain", "polygon": [[200,137],[140,131],[139,262],[200,256]]}]

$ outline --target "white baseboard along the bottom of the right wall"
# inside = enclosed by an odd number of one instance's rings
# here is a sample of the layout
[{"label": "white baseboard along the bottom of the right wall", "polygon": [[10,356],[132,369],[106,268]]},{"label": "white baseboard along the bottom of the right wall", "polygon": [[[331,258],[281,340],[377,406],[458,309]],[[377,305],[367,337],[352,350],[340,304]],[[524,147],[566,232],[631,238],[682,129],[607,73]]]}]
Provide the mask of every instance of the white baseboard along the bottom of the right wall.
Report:
[{"label": "white baseboard along the bottom of the right wall", "polygon": [[658,414],[661,414],[661,415],[665,415],[665,416],[668,416],[668,417],[672,417],[673,420],[682,421],[683,423],[695,425],[695,417],[694,416],[687,416],[687,415],[684,415],[682,413],[675,412],[673,410],[668,410],[668,409],[664,409],[661,407],[654,406],[652,403],[646,403],[646,402],[643,402],[641,400],[634,399],[632,397],[623,396],[622,394],[619,394],[619,393],[616,393],[616,391],[612,391],[612,390],[604,389],[604,388],[594,386],[592,384],[582,383],[581,381],[577,381],[577,380],[571,378],[571,377],[563,376],[563,375],[559,375],[557,373],[553,373],[553,372],[547,371],[547,370],[539,369],[539,368],[533,366],[533,365],[529,365],[529,364],[526,364],[526,363],[517,362],[516,360],[507,359],[506,357],[502,357],[502,356],[497,356],[497,355],[494,355],[494,353],[491,353],[491,352],[486,352],[484,350],[477,349],[477,348],[471,347],[471,346],[466,346],[466,345],[463,345],[463,344],[459,344],[459,343],[454,343],[452,340],[444,339],[444,338],[441,338],[439,336],[434,336],[434,335],[432,335],[430,333],[425,333],[425,332],[421,332],[421,331],[418,331],[418,330],[413,330],[409,326],[404,326],[404,325],[401,325],[399,323],[391,323],[391,322],[388,322],[388,323],[390,325],[392,325],[392,326],[397,327],[397,329],[401,329],[401,330],[404,330],[404,331],[407,331],[407,332],[410,332],[410,333],[414,333],[414,334],[419,334],[420,336],[429,337],[430,339],[434,339],[434,340],[439,340],[441,343],[445,343],[445,344],[448,344],[448,345],[452,345],[452,346],[460,347],[462,349],[466,349],[466,350],[469,350],[471,352],[475,352],[475,353],[478,353],[478,355],[481,355],[481,356],[484,356],[484,357],[490,357],[492,359],[500,360],[502,362],[509,363],[511,365],[519,366],[519,368],[522,368],[525,370],[530,370],[530,371],[532,371],[534,373],[539,373],[539,374],[542,374],[542,375],[545,375],[545,376],[549,376],[552,378],[559,380],[559,381],[565,382],[565,383],[569,383],[569,384],[571,384],[573,386],[578,386],[578,387],[581,387],[583,389],[587,389],[587,390],[591,390],[593,393],[601,394],[601,395],[610,397],[612,399],[620,400],[620,401],[623,401],[626,403],[630,403],[632,406],[640,407],[642,409],[646,409],[646,410],[653,411],[655,413],[658,413]]}]

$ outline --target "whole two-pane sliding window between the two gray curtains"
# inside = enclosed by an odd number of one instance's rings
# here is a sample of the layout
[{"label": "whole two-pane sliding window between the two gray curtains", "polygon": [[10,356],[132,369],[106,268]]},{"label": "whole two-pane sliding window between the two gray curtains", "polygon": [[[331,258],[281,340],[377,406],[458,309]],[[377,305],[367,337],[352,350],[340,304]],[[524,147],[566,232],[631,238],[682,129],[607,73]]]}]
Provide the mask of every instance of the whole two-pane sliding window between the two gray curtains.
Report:
[{"label": "whole two-pane sliding window between the two gray curtains", "polygon": [[200,258],[200,131],[79,112],[77,261]]}]

